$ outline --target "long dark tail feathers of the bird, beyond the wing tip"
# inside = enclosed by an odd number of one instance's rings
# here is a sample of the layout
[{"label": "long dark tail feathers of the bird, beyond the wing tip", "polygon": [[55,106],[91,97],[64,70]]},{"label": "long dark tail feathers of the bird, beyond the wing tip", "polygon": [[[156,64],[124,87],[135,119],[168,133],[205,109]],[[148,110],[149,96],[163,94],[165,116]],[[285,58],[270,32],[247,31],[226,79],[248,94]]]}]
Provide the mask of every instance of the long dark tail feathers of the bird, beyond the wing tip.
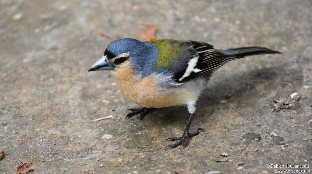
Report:
[{"label": "long dark tail feathers of the bird, beyond the wing tip", "polygon": [[231,48],[221,51],[223,54],[234,57],[245,57],[256,54],[280,54],[281,52],[271,50],[266,47],[239,47],[239,48]]}]

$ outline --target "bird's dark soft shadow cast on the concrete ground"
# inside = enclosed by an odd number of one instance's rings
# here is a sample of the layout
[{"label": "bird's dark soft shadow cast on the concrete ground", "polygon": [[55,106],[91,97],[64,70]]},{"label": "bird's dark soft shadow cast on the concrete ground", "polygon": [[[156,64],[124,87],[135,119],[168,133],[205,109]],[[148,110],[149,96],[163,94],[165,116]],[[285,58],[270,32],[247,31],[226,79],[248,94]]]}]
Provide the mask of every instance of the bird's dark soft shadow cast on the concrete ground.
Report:
[{"label": "bird's dark soft shadow cast on the concrete ground", "polygon": [[[201,115],[200,120],[207,120],[209,115],[215,112],[215,109],[220,105],[222,97],[225,95],[232,96],[238,101],[241,99],[244,93],[246,93],[250,87],[257,87],[261,84],[261,81],[273,81],[276,80],[281,69],[284,69],[284,64],[279,64],[271,67],[263,67],[252,71],[247,71],[241,74],[228,75],[219,82],[208,82],[208,86],[203,90],[199,97],[196,113],[206,113]],[[213,76],[213,75],[212,75]],[[160,117],[159,117],[160,116]],[[187,107],[174,106],[157,109],[149,113],[144,119],[146,122],[161,122],[163,126],[181,126],[184,127],[188,120]],[[196,117],[196,116],[195,116]]]}]

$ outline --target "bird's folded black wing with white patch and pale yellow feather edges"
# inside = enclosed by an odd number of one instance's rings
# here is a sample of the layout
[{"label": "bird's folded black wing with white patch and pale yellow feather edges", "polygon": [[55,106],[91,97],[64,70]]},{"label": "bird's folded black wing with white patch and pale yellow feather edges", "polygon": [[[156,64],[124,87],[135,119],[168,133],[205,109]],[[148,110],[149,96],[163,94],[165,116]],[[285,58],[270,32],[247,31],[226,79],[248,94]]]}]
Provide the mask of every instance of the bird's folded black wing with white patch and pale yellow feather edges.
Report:
[{"label": "bird's folded black wing with white patch and pale yellow feather edges", "polygon": [[179,41],[190,49],[190,59],[186,68],[176,72],[174,78],[177,82],[185,82],[204,74],[211,74],[224,63],[242,58],[226,55],[221,50],[214,49],[212,45],[197,41]]}]

